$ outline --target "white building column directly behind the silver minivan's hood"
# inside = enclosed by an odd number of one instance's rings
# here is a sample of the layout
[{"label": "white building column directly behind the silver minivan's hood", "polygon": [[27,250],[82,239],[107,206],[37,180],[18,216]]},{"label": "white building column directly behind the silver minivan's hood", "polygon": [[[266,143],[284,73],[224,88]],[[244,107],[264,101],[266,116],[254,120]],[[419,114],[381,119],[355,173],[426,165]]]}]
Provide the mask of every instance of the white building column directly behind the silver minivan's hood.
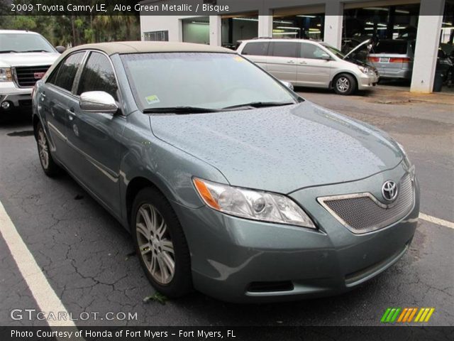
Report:
[{"label": "white building column directly behind the silver minivan's hood", "polygon": [[342,47],[342,22],[343,3],[338,0],[326,1],[323,41],[339,50]]}]

